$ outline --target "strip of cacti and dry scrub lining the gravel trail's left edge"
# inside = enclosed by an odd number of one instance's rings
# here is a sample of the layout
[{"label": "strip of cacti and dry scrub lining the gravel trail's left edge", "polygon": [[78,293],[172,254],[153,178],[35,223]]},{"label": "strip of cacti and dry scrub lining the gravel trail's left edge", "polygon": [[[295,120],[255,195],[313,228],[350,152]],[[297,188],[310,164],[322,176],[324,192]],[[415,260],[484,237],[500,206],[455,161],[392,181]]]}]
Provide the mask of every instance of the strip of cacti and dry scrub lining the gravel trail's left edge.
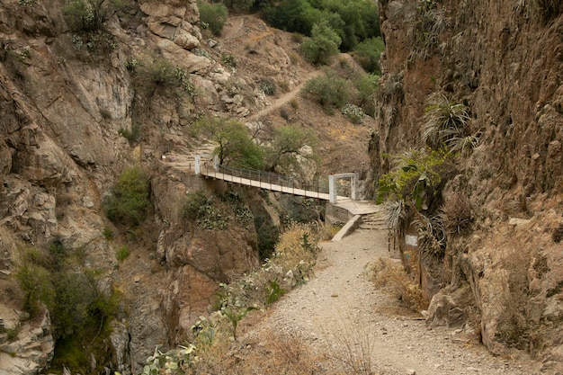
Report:
[{"label": "strip of cacti and dry scrub lining the gravel trail's left edge", "polygon": [[[287,290],[307,280],[315,263],[317,240],[315,228],[304,225],[288,228],[281,235],[275,254],[259,270],[246,273],[231,284],[220,284],[213,305],[216,311],[209,317],[200,317],[192,326],[191,342],[166,353],[156,350],[147,359],[143,374],[247,373],[244,361],[231,361],[233,352],[229,337],[237,340],[239,323],[252,310],[267,308]],[[275,342],[276,345],[283,343]],[[288,346],[285,350],[297,355],[301,348]],[[306,358],[292,357],[272,368],[272,371],[261,373],[281,373],[281,369],[290,369],[282,373],[304,373],[300,369],[306,366],[307,373],[314,372],[309,371],[313,369],[313,362],[306,363],[304,360]],[[264,369],[270,368],[264,364],[264,358],[255,363]]]}]

